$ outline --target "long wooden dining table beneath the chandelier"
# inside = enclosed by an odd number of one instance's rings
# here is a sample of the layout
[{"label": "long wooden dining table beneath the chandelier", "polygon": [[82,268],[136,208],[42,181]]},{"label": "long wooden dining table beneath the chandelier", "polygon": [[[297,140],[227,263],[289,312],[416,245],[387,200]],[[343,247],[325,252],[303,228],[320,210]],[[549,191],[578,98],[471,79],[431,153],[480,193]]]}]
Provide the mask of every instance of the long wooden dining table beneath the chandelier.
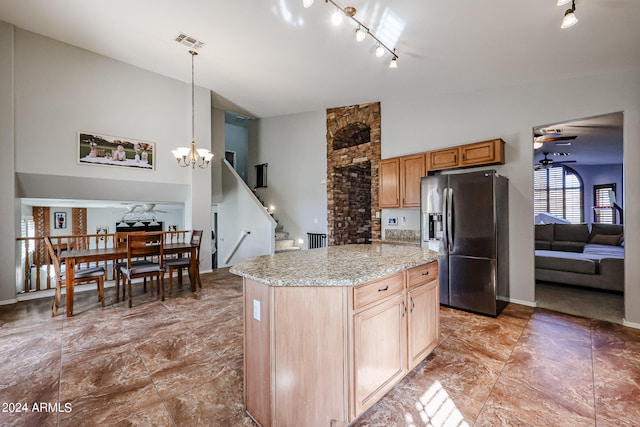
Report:
[{"label": "long wooden dining table beneath the chandelier", "polygon": [[[182,256],[189,254],[189,280],[191,282],[191,291],[196,291],[196,280],[198,278],[198,263],[197,263],[197,245],[192,245],[190,242],[172,242],[164,243],[163,252],[164,255],[177,254]],[[114,247],[114,248],[91,248],[91,249],[73,249],[69,251],[62,251],[60,254],[60,261],[64,261],[66,265],[66,280],[65,285],[66,292],[66,306],[67,317],[73,316],[73,282],[76,265],[83,263],[98,263],[101,261],[117,261],[127,258],[127,247]]]}]

